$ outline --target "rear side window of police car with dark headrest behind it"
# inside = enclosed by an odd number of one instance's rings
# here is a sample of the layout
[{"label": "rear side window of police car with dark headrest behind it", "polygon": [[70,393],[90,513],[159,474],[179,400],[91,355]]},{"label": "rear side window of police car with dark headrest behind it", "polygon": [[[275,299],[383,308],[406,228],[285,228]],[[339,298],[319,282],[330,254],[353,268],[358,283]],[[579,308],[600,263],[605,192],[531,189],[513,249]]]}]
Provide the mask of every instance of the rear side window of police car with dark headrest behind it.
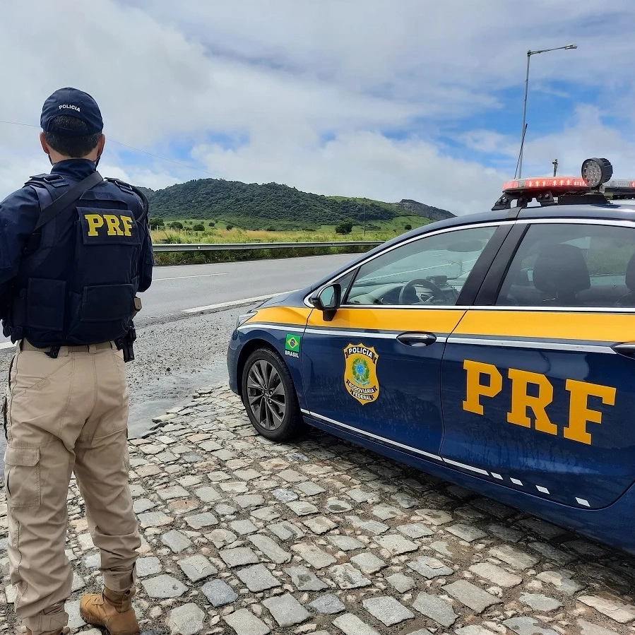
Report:
[{"label": "rear side window of police car with dark headrest behind it", "polygon": [[497,304],[635,308],[635,228],[532,225],[511,261]]}]

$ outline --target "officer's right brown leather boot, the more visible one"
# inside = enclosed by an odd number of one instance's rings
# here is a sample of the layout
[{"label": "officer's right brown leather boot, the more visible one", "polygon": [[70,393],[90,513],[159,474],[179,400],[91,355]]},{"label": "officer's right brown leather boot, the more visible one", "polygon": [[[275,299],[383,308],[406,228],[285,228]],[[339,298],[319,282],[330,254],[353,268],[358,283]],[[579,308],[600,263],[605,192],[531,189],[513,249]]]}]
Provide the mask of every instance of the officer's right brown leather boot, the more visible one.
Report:
[{"label": "officer's right brown leather boot, the more visible one", "polygon": [[138,635],[139,625],[132,607],[134,590],[117,593],[104,587],[102,593],[84,595],[79,613],[88,624],[106,627],[110,635]]}]

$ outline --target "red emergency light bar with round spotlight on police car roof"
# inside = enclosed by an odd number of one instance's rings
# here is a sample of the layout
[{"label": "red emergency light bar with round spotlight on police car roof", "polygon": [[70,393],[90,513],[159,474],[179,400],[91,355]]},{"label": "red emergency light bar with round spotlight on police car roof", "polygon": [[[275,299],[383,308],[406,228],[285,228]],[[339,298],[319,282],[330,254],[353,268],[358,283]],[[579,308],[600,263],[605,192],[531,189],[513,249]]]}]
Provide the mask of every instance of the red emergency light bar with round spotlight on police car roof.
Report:
[{"label": "red emergency light bar with round spotlight on police car roof", "polygon": [[503,194],[492,210],[527,207],[535,199],[541,206],[605,204],[635,198],[635,179],[611,179],[613,166],[607,159],[586,159],[580,177],[514,179],[503,185]]}]

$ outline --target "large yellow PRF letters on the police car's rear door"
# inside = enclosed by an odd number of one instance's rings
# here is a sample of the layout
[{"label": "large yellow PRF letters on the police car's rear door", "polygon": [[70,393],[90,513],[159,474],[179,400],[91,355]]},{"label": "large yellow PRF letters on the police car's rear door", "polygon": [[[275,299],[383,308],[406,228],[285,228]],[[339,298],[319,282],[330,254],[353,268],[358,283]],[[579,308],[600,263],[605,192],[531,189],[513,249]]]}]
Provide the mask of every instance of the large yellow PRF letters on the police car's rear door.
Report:
[{"label": "large yellow PRF letters on the police car's rear door", "polygon": [[[463,369],[466,373],[463,410],[482,415],[485,412],[484,400],[491,399],[502,391],[503,375],[494,364],[473,360],[464,360]],[[549,379],[543,374],[517,368],[510,368],[507,378],[511,381],[511,403],[507,421],[557,435],[558,427],[549,419],[546,410],[554,399],[554,387]],[[588,398],[598,397],[605,405],[615,405],[616,389],[576,379],[566,379],[564,389],[569,398],[569,421],[562,434],[565,439],[591,445],[593,437],[587,424],[602,423],[602,413],[589,407]],[[532,394],[529,394],[530,392]],[[532,420],[528,417],[528,410],[533,412],[533,426]]]}]

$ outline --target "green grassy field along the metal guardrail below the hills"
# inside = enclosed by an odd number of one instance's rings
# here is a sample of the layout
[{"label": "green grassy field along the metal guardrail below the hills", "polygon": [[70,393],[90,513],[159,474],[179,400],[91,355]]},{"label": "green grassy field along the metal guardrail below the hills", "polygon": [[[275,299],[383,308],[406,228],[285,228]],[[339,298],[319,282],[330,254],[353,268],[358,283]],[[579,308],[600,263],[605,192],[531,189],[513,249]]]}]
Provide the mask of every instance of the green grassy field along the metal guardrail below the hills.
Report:
[{"label": "green grassy field along the metal guardrail below the hills", "polygon": [[[166,223],[169,223],[167,220]],[[182,230],[158,229],[152,231],[154,244],[188,244],[188,243],[236,243],[236,242],[333,242],[361,241],[384,242],[407,231],[406,226],[425,225],[427,219],[421,216],[399,216],[389,221],[375,220],[369,222],[364,235],[362,225],[353,225],[350,234],[336,234],[334,225],[322,225],[315,230],[266,231],[243,230],[240,227],[227,229],[227,222],[215,220],[182,220]],[[206,230],[195,232],[192,225],[203,222]],[[209,223],[213,222],[213,227]],[[290,256],[312,256],[319,254],[359,253],[366,247],[334,247],[328,249],[257,249],[244,251],[182,251],[155,254],[157,264],[195,264],[208,262],[227,262],[237,260],[254,260],[262,258],[288,258]]]}]

